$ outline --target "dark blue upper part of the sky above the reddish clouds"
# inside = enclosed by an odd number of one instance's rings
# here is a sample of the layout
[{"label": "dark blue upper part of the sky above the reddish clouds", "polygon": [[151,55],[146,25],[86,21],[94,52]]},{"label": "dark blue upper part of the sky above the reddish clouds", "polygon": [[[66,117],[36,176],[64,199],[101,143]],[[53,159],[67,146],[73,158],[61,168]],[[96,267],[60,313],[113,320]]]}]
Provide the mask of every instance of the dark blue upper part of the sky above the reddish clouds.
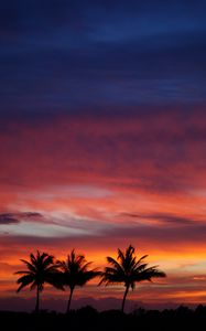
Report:
[{"label": "dark blue upper part of the sky above the reddish clouds", "polygon": [[204,104],[205,12],[199,0],[1,1],[0,111]]}]

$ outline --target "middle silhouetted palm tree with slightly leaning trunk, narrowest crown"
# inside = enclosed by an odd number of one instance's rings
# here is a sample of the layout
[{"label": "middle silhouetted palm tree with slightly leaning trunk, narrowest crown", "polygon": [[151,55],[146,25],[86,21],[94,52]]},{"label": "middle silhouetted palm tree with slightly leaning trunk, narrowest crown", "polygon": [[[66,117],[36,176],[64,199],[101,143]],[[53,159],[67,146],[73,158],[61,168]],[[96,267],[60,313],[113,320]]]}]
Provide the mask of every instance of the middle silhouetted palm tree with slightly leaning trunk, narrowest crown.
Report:
[{"label": "middle silhouetted palm tree with slightly leaning trunk, narrowest crown", "polygon": [[66,261],[58,261],[62,270],[62,284],[69,287],[69,297],[66,313],[69,312],[71,301],[75,287],[84,286],[87,281],[99,275],[97,269],[88,269],[91,263],[87,263],[84,255],[76,255],[75,249],[67,255]]}]

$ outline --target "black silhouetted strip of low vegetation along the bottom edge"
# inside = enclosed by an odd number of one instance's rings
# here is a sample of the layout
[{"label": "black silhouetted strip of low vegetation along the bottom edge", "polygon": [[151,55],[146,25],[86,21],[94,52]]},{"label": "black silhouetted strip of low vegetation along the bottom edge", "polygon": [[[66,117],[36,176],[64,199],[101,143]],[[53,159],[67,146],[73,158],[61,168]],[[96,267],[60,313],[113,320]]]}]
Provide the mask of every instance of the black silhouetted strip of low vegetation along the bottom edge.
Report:
[{"label": "black silhouetted strip of low vegetation along the bottom edge", "polygon": [[118,310],[98,312],[93,307],[84,307],[69,314],[41,311],[36,313],[0,312],[2,330],[21,331],[176,331],[205,330],[206,307],[195,310],[181,306],[177,309],[144,310],[132,313]]}]

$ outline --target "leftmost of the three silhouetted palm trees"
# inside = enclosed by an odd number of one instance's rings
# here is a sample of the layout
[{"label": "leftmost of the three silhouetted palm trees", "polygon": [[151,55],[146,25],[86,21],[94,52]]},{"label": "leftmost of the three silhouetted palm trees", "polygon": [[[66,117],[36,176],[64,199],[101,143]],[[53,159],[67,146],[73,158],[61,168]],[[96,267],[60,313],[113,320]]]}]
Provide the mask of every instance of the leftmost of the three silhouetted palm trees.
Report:
[{"label": "leftmost of the three silhouetted palm trees", "polygon": [[36,289],[35,312],[39,312],[40,293],[43,291],[45,282],[58,289],[64,289],[58,279],[59,271],[57,270],[57,265],[54,264],[54,256],[47,253],[40,253],[39,250],[36,256],[30,254],[30,260],[20,260],[25,264],[28,270],[14,273],[15,275],[23,275],[17,280],[20,284],[17,291],[21,291],[26,286],[30,286],[31,290]]}]

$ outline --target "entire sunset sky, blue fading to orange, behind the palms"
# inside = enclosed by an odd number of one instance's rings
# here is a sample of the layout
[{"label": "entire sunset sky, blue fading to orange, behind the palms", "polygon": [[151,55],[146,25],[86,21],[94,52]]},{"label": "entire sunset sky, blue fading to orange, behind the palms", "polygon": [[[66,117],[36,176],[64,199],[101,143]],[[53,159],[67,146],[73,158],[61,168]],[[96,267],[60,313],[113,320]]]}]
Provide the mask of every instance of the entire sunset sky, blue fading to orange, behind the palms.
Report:
[{"label": "entire sunset sky, blue fading to orange, behind the palms", "polygon": [[[102,268],[129,244],[167,275],[131,300],[206,303],[205,11],[0,2],[0,306],[32,297],[13,275],[31,252],[76,248]],[[122,292],[90,284],[76,298]]]}]

